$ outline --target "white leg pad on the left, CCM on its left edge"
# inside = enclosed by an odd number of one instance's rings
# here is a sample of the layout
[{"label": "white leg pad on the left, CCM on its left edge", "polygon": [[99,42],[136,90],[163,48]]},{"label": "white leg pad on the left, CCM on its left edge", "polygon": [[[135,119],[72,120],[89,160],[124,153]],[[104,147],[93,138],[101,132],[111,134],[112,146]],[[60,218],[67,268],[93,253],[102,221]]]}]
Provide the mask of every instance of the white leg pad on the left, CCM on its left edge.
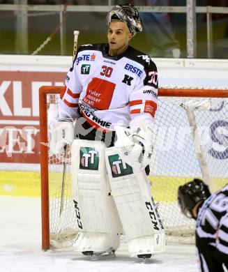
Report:
[{"label": "white leg pad on the left, CCM on its left edge", "polygon": [[74,140],[71,179],[79,227],[75,250],[116,250],[122,225],[107,180],[104,143]]}]

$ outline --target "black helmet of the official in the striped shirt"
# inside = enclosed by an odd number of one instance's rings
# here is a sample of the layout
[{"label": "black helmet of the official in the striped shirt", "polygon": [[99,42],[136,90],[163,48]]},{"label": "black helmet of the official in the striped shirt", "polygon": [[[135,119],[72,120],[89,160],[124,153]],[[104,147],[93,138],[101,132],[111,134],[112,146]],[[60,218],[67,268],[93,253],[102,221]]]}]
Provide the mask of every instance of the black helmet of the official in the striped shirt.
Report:
[{"label": "black helmet of the official in the striped shirt", "polygon": [[195,205],[202,200],[206,200],[210,195],[211,192],[204,181],[201,179],[193,179],[193,181],[179,186],[178,204],[185,216],[192,218],[192,209]]}]

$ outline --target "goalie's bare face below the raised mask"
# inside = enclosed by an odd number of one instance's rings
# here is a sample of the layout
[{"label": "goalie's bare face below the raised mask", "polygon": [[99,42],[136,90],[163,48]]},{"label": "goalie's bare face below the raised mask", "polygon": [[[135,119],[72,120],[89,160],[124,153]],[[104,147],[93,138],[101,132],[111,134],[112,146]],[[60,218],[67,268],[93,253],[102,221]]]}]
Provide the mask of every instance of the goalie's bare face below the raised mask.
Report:
[{"label": "goalie's bare face below the raised mask", "polygon": [[107,31],[109,43],[109,55],[116,56],[126,51],[128,43],[132,38],[128,26],[125,22],[112,21]]}]

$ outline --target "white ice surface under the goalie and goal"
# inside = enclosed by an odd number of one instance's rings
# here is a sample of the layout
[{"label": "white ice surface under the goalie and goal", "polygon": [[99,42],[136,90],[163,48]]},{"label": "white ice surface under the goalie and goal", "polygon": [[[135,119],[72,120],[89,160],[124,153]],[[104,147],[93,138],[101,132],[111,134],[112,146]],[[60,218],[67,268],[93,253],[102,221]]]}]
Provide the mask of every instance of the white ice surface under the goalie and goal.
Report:
[{"label": "white ice surface under the goalie and goal", "polygon": [[91,261],[73,250],[41,250],[40,199],[0,197],[1,272],[193,272],[199,271],[195,245],[167,245],[145,264],[130,258],[126,243],[115,259]]}]

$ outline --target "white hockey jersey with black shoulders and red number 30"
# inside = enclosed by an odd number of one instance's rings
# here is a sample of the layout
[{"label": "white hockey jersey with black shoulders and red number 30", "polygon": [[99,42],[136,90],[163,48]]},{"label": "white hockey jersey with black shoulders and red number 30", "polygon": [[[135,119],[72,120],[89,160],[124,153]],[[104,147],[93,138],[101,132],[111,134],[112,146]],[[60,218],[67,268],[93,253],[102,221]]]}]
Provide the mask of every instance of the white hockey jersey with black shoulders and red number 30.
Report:
[{"label": "white hockey jersey with black shoulders and red number 30", "polygon": [[66,75],[61,111],[73,118],[80,112],[91,126],[104,132],[116,125],[129,127],[135,118],[153,123],[158,100],[155,63],[130,46],[123,54],[109,56],[108,46],[79,47]]}]

